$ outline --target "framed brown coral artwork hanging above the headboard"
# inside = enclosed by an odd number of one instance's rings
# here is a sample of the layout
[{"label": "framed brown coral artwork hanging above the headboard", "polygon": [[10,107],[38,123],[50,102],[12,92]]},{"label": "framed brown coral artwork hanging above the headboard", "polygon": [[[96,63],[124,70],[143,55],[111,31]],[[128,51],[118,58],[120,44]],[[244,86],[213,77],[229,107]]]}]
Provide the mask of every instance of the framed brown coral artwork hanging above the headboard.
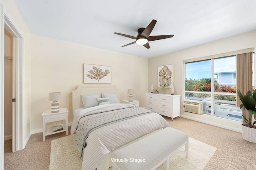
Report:
[{"label": "framed brown coral artwork hanging above the headboard", "polygon": [[84,64],[84,83],[111,83],[111,66]]}]

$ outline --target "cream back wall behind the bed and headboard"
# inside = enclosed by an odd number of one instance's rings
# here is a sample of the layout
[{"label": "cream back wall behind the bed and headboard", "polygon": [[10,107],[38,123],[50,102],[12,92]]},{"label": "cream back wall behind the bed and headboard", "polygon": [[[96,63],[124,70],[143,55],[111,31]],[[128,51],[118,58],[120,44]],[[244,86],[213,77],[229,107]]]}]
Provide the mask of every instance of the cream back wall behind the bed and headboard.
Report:
[{"label": "cream back wall behind the bed and headboard", "polygon": [[71,92],[83,84],[83,63],[111,66],[120,101],[128,99],[128,88],[134,88],[134,100],[145,106],[148,59],[31,34],[32,131],[42,129],[42,112],[50,109],[49,92],[61,92],[60,107],[68,108],[72,122]]}]

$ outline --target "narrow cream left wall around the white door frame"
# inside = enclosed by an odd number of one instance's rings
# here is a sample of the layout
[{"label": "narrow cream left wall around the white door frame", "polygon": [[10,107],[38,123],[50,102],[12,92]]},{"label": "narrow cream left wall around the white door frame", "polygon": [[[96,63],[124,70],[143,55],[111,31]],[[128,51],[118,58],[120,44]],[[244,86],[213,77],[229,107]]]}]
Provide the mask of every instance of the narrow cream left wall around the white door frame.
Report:
[{"label": "narrow cream left wall around the white door frame", "polygon": [[[30,137],[30,32],[13,0],[0,0],[4,12],[15,24],[24,39],[24,107],[23,107],[23,139],[24,145]],[[23,146],[25,147],[25,146]]]}]

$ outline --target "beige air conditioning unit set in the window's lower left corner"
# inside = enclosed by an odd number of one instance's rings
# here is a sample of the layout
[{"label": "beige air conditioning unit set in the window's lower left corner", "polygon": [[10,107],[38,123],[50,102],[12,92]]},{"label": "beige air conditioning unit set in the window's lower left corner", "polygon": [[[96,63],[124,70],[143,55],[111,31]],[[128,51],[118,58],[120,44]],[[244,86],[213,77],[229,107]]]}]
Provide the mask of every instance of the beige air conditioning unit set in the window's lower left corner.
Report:
[{"label": "beige air conditioning unit set in the window's lower left corner", "polygon": [[202,101],[197,100],[184,100],[183,111],[202,114]]}]

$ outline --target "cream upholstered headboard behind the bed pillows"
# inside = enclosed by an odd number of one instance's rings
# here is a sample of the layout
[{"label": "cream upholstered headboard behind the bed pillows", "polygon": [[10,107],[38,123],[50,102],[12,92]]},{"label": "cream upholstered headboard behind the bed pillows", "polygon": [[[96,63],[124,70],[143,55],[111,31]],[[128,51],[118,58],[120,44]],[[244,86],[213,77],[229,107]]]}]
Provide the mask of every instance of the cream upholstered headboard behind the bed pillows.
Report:
[{"label": "cream upholstered headboard behind the bed pillows", "polygon": [[116,97],[118,98],[119,101],[119,90],[116,88],[115,85],[112,84],[83,84],[80,85],[72,92],[72,109],[77,108],[82,108],[83,102],[82,102],[82,97],[81,94],[100,94],[101,93],[116,93]]}]

